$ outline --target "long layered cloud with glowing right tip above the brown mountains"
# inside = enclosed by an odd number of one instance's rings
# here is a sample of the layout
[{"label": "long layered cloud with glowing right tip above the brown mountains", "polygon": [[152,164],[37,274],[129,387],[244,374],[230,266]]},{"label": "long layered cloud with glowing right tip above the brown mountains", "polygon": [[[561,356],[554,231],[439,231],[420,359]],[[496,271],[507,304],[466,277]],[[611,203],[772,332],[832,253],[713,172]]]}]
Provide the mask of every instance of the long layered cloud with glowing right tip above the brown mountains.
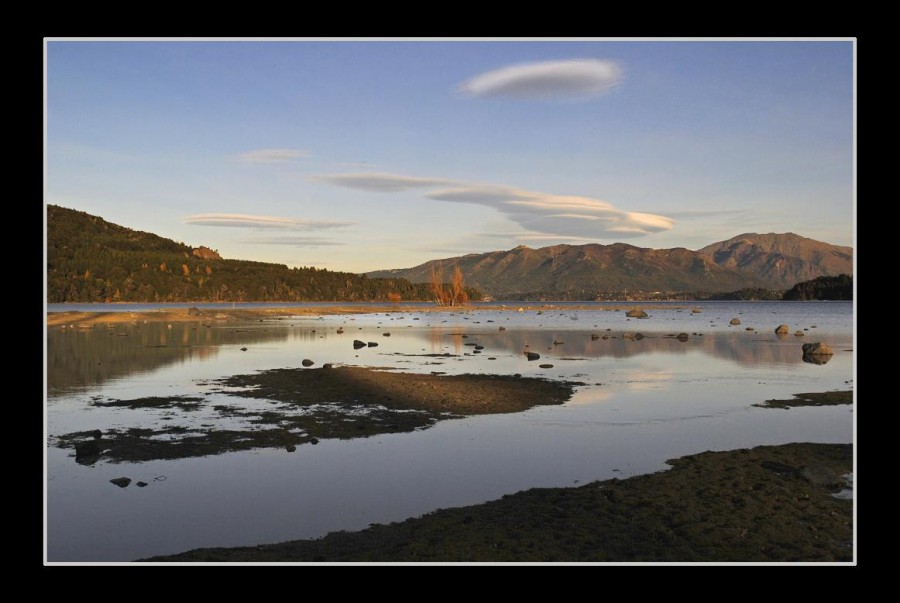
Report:
[{"label": "long layered cloud with glowing right tip above the brown mountains", "polygon": [[370,192],[438,189],[425,197],[436,201],[486,205],[533,233],[602,238],[639,237],[670,230],[674,220],[658,214],[619,209],[607,201],[573,195],[533,192],[497,184],[467,183],[399,174],[326,174],[317,181]]}]

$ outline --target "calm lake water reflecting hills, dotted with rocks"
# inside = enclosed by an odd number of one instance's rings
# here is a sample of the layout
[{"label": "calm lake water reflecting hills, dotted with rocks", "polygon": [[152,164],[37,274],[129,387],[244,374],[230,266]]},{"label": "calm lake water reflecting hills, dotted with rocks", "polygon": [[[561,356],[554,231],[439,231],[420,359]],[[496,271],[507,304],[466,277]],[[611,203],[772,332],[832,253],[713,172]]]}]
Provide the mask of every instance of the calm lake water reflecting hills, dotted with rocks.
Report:
[{"label": "calm lake water reflecting hills, dotted with rocks", "polygon": [[[851,303],[701,302],[649,313],[637,320],[600,305],[515,312],[496,304],[446,313],[404,306],[390,313],[209,327],[140,322],[48,328],[47,558],[129,561],[197,547],[319,537],[531,487],[658,471],[666,459],[704,450],[853,441],[853,407],[753,406],[795,393],[853,388]],[[734,317],[739,326],[729,325]],[[774,329],[782,323],[805,336],[779,338]],[[668,336],[679,332],[689,340]],[[645,337],[623,337],[636,333]],[[379,346],[354,350],[353,339]],[[827,342],[834,357],[824,365],[803,362],[800,347],[812,341]],[[483,353],[466,345],[474,343],[484,346]],[[540,361],[525,359],[526,345],[541,354]],[[424,356],[445,352],[457,356]],[[520,373],[587,385],[562,406],[443,421],[411,433],[322,440],[292,453],[266,449],[119,464],[101,459],[84,466],[54,445],[55,436],[88,429],[222,425],[203,411],[112,409],[91,402],[194,395],[210,408],[264,407],[269,403],[215,391],[209,381],[299,367],[304,358],[316,366]],[[109,483],[122,476],[132,485]],[[138,480],[149,485],[137,488]]]}]

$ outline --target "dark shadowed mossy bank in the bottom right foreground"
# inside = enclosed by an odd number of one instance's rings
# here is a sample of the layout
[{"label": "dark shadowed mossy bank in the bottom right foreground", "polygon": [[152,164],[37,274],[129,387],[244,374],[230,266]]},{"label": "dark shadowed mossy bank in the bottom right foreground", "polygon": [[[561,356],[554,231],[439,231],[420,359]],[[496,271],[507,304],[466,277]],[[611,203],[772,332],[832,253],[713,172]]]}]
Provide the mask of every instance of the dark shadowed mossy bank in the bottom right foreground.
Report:
[{"label": "dark shadowed mossy bank in the bottom right foreground", "polygon": [[195,549],[168,562],[833,562],[853,559],[853,504],[832,496],[849,444],[704,452],[672,469],[537,488],[360,532]]}]

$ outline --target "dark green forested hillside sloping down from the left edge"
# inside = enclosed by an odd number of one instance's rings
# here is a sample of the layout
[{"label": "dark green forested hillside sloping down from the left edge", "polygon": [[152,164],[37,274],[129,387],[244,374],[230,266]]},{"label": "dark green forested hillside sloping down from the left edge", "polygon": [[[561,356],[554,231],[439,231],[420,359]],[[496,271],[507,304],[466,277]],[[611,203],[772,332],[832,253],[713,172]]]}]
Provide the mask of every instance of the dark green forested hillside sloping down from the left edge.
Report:
[{"label": "dark green forested hillside sloping down from the left edge", "polygon": [[[468,290],[470,299],[481,295]],[[223,260],[155,234],[47,207],[47,301],[429,301],[427,284]]]}]

